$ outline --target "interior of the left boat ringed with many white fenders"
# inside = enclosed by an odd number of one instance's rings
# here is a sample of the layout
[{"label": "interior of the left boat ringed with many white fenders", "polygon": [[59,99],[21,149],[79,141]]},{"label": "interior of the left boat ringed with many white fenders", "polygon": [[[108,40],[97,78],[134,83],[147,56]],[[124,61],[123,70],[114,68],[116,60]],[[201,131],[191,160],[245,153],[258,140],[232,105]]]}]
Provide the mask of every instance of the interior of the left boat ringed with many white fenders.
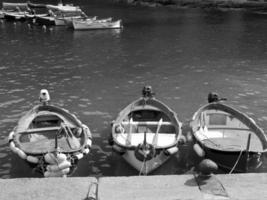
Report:
[{"label": "interior of the left boat ringed with many white fenders", "polygon": [[[43,112],[43,111],[42,111]],[[25,152],[50,152],[57,146],[64,151],[73,151],[81,148],[85,137],[77,136],[78,128],[66,124],[58,114],[42,113],[37,115],[25,132],[18,134],[21,148]]]}]

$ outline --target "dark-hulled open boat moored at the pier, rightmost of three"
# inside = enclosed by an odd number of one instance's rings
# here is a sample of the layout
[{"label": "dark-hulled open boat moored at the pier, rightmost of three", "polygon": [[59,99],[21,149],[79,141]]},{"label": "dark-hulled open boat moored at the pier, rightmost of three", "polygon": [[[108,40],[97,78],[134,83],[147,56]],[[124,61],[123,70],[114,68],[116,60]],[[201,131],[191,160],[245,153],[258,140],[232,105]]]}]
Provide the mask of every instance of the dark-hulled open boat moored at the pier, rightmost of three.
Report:
[{"label": "dark-hulled open boat moored at the pier, rightmost of three", "polygon": [[253,171],[262,164],[266,136],[252,118],[226,105],[224,100],[210,93],[209,103],[193,115],[190,125],[200,147],[195,149],[229,173]]}]

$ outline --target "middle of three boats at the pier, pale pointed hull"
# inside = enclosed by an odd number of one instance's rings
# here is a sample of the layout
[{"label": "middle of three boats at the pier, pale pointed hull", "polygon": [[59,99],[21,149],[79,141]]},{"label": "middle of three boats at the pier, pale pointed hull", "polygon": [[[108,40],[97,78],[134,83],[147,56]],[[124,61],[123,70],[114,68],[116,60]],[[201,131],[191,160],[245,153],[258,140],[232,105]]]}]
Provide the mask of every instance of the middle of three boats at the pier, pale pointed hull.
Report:
[{"label": "middle of three boats at the pier, pale pointed hull", "polygon": [[139,174],[147,175],[178,152],[181,123],[146,86],[112,124],[110,144]]}]

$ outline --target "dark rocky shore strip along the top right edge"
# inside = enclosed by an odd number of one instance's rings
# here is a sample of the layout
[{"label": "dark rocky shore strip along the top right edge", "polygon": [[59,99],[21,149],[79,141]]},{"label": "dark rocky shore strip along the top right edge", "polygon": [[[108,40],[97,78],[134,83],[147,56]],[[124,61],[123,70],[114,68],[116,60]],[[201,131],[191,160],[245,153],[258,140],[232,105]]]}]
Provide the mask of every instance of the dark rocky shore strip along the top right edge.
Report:
[{"label": "dark rocky shore strip along the top right edge", "polygon": [[266,11],[267,0],[115,0],[131,5],[170,8],[219,8]]}]

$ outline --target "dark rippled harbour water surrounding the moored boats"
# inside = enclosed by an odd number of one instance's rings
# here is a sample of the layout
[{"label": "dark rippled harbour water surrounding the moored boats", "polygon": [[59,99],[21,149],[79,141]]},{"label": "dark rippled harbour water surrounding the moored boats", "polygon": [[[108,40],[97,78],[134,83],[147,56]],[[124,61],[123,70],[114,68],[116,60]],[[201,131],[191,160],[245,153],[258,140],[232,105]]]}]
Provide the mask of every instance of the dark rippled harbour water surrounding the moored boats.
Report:
[{"label": "dark rippled harbour water surrounding the moored boats", "polygon": [[[7,136],[38,102],[42,88],[93,133],[92,151],[73,176],[138,175],[112,153],[108,135],[110,122],[147,84],[182,122],[215,91],[267,130],[267,16],[102,1],[75,4],[88,15],[122,19],[124,29],[76,32],[0,23],[1,178],[39,176],[10,151]],[[153,174],[187,170],[176,156]]]}]

